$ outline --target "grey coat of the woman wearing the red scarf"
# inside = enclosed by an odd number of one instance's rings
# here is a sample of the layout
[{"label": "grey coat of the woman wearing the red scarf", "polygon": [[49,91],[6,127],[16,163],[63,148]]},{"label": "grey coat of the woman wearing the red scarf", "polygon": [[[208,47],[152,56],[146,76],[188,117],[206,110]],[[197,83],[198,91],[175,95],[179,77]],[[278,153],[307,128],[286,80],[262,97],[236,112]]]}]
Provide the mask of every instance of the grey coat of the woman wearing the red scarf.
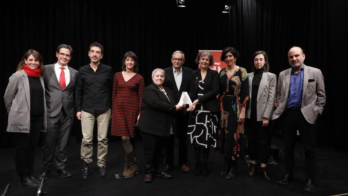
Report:
[{"label": "grey coat of the woman wearing the red scarf", "polygon": [[[39,76],[42,88],[45,85],[44,80]],[[29,133],[30,131],[30,89],[29,79],[24,70],[12,74],[9,78],[5,95],[5,106],[8,113],[7,132]],[[44,101],[44,126],[42,131],[47,130],[46,103]]]}]

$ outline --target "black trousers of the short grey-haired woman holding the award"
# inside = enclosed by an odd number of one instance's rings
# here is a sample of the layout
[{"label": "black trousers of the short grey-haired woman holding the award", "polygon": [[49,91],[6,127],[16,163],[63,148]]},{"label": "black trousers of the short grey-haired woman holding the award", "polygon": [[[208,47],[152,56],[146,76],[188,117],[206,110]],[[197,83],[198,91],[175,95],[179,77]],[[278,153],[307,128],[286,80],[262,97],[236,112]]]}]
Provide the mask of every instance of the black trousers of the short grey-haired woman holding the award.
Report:
[{"label": "black trousers of the short grey-haired woman holding the award", "polygon": [[168,137],[142,132],[144,144],[144,174],[162,173],[164,169],[164,148]]}]

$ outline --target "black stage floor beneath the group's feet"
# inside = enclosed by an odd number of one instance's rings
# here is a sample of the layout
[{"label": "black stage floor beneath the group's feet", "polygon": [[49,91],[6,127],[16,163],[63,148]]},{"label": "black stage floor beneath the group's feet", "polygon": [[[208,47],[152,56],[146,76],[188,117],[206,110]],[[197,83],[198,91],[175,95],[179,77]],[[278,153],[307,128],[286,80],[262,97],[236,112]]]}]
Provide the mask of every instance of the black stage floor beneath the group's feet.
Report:
[{"label": "black stage floor beneath the group's feet", "polygon": [[[348,193],[348,154],[347,152],[337,152],[330,148],[317,148],[317,178],[316,191],[307,193],[303,191],[305,182],[304,163],[300,154],[295,150],[295,172],[292,182],[286,185],[277,184],[284,171],[284,156],[280,157],[276,167],[269,166],[272,181],[267,182],[260,175],[249,177],[249,168],[245,161],[238,162],[238,175],[235,179],[226,180],[220,176],[224,159],[222,154],[213,149],[209,155],[208,177],[193,175],[194,155],[193,147],[189,146],[188,166],[191,172],[184,173],[178,165],[172,172],[172,179],[154,178],[151,183],[143,181],[142,173],[135,175],[131,179],[116,179],[115,174],[120,174],[124,169],[125,153],[120,140],[109,142],[108,158],[106,168],[108,175],[100,177],[96,166],[96,144],[93,145],[94,155],[91,165],[91,175],[88,180],[80,180],[82,169],[80,159],[80,143],[74,142],[75,137],[70,139],[68,147],[67,169],[72,172],[70,178],[63,178],[55,174],[45,182],[44,191],[47,196],[53,195],[337,195]],[[283,142],[277,138],[272,140],[272,148],[280,149],[282,152]],[[303,157],[303,146],[297,144]],[[175,141],[175,161],[177,162],[177,141]],[[141,141],[136,143],[136,156],[143,172],[143,144]],[[8,195],[36,195],[37,188],[23,188],[18,186],[18,177],[14,165],[14,149],[0,149],[0,191],[5,189],[10,183]],[[177,164],[175,162],[175,164]],[[35,157],[35,176],[41,173],[41,150],[38,147]]]}]

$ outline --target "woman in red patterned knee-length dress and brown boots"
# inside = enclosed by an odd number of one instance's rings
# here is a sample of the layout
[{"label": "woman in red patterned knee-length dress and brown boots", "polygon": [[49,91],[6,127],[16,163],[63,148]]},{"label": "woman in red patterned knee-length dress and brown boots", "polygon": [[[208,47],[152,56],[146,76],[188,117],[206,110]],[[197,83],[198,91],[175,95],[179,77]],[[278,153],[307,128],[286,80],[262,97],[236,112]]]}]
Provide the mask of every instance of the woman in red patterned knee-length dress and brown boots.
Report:
[{"label": "woman in red patterned knee-length dress and brown boots", "polygon": [[126,152],[123,175],[132,178],[139,173],[134,154],[135,124],[139,119],[143,77],[138,72],[138,58],[129,51],[123,57],[122,70],[115,74],[112,89],[111,135],[122,136]]}]

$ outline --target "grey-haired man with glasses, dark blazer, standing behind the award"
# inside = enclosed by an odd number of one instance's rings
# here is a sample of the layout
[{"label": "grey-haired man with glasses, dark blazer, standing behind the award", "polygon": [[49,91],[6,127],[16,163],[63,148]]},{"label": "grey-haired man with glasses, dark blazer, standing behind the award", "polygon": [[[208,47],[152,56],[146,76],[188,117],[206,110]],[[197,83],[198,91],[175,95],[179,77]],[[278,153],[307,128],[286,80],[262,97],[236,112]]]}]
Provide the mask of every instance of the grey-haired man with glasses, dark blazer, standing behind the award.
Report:
[{"label": "grey-haired man with glasses, dark blazer, standing behind the award", "polygon": [[[176,104],[179,103],[182,92],[190,91],[190,76],[192,69],[183,67],[185,63],[185,55],[181,51],[175,51],[172,55],[173,66],[164,69],[166,80],[164,86],[171,89],[174,93]],[[182,171],[189,172],[190,169],[187,166],[187,126],[188,115],[177,113],[176,115],[176,135],[179,138],[179,166]],[[174,163],[174,134],[169,138],[169,142],[166,146],[166,167],[165,171],[171,171]]]}]

